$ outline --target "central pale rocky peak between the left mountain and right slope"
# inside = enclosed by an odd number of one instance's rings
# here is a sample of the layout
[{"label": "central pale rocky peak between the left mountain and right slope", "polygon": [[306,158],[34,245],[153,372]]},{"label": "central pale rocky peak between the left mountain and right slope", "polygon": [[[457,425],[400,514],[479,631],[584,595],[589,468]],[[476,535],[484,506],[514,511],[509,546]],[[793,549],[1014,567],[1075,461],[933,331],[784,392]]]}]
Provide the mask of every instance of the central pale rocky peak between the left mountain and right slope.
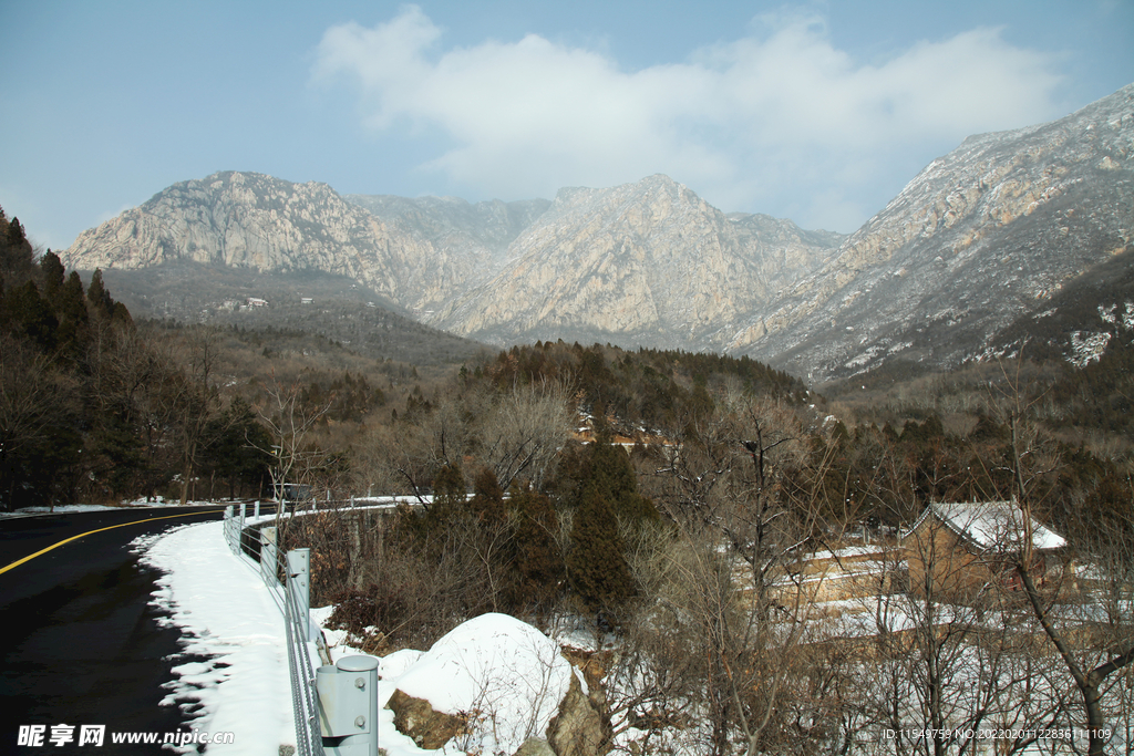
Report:
[{"label": "central pale rocky peak between the left mountain and right slope", "polygon": [[500,273],[433,323],[497,343],[607,335],[704,348],[841,238],[765,215],[728,218],[665,176],[562,189],[509,246]]}]

